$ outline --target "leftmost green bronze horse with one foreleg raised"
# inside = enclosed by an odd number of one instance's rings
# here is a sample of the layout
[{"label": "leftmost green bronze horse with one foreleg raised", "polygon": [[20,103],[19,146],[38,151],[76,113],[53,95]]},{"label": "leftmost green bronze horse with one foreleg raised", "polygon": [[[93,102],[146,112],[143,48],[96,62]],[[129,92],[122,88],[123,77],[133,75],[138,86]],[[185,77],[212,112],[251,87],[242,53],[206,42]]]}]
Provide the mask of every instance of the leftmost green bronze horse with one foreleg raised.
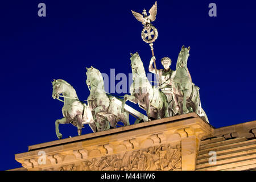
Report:
[{"label": "leftmost green bronze horse with one foreleg raised", "polygon": [[[63,94],[63,96],[60,96],[60,94]],[[73,86],[61,79],[52,82],[52,98],[60,100],[59,97],[64,98],[64,105],[62,107],[63,118],[57,119],[55,122],[57,138],[62,138],[62,134],[59,132],[59,124],[72,123],[77,127],[79,135],[82,133],[84,124],[89,124],[94,129],[95,124],[89,106],[79,100]]]}]

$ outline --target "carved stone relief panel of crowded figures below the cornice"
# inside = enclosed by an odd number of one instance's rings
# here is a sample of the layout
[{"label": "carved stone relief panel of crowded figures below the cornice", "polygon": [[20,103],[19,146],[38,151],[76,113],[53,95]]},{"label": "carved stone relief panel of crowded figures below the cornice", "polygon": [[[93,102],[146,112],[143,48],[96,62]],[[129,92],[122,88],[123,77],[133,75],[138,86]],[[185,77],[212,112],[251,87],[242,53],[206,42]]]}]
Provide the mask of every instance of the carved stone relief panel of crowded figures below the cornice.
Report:
[{"label": "carved stone relief panel of crowded figures below the cornice", "polygon": [[97,171],[179,170],[181,168],[180,147],[172,148],[170,144],[162,144],[122,155],[93,158],[82,162],[81,165],[82,170]]}]

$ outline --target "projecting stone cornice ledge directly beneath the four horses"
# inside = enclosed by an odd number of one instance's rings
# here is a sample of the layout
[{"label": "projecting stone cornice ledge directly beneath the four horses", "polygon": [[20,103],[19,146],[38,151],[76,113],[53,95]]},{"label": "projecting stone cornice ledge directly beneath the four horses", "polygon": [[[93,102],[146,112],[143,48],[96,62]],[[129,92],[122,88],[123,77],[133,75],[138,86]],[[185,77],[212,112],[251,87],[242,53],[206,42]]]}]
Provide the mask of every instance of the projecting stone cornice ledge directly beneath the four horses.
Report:
[{"label": "projecting stone cornice ledge directly beneath the four horses", "polygon": [[[213,127],[203,121],[197,114],[189,113],[155,121],[119,127],[108,131],[81,135],[36,144],[29,147],[28,152],[16,154],[15,159],[29,170],[56,168],[67,166],[75,168],[75,163],[106,155],[123,155],[125,152],[165,145],[178,145],[183,138],[191,136],[200,140],[204,136],[212,136]],[[172,146],[173,147],[173,146]],[[39,164],[39,151],[46,154],[46,164]],[[196,152],[195,152],[196,153]],[[81,164],[80,164],[81,166]],[[61,169],[64,169],[62,167]]]}]

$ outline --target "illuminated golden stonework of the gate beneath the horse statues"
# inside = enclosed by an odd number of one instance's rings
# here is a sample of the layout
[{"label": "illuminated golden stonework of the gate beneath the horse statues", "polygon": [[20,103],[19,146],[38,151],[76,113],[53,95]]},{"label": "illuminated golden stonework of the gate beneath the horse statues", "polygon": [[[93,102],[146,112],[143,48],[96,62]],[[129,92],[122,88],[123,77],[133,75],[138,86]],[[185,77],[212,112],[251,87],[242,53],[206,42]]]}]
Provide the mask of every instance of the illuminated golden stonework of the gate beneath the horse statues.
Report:
[{"label": "illuminated golden stonework of the gate beneath the horse statues", "polygon": [[13,170],[254,169],[255,134],[256,121],[214,129],[189,113],[29,146]]}]

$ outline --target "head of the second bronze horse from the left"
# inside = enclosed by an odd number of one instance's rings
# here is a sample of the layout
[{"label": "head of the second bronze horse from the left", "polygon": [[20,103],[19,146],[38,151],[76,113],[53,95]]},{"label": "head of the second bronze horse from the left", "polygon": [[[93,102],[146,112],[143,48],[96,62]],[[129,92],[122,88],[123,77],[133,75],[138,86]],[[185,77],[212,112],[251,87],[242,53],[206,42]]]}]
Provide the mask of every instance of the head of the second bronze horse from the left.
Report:
[{"label": "head of the second bronze horse from the left", "polygon": [[101,75],[101,72],[98,71],[98,69],[90,67],[90,68],[86,68],[87,72],[86,72],[86,85],[92,86],[92,84],[94,86],[97,86],[99,84],[101,84],[102,86],[104,86],[104,81],[103,81],[103,77]]}]

